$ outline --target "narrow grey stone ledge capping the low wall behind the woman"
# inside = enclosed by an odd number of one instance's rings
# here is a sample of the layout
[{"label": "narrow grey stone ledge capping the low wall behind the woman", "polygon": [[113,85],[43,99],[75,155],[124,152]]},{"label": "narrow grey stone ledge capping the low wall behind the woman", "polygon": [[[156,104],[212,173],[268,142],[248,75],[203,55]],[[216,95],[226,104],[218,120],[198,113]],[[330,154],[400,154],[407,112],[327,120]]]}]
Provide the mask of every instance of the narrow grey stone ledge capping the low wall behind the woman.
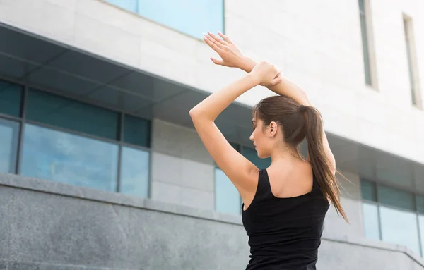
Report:
[{"label": "narrow grey stone ledge capping the low wall behind the woman", "polygon": [[[151,211],[160,211],[168,214],[176,214],[179,216],[191,216],[196,219],[206,219],[211,221],[218,221],[220,223],[232,223],[235,225],[242,226],[240,216],[221,214],[208,209],[196,209],[193,207],[185,207],[177,204],[169,204],[165,202],[158,202],[149,199],[132,197],[115,192],[95,190],[92,188],[76,187],[48,180],[17,176],[9,173],[0,173],[0,185],[26,190],[35,190],[39,192],[47,192],[67,197],[78,197],[83,200],[94,200],[98,202],[107,202],[110,204],[119,204],[124,205],[126,207],[135,207],[141,209],[148,209]],[[404,245],[385,243],[379,240],[370,240],[366,238],[349,237],[348,235],[345,235],[343,237],[334,236],[331,235],[329,231],[324,231],[322,240],[336,243],[344,243],[346,245],[370,247],[375,248],[377,250],[401,252],[406,254],[407,257],[411,258],[417,264],[420,264],[420,266],[424,267],[424,259],[420,257],[420,255],[409,250]]]}]

